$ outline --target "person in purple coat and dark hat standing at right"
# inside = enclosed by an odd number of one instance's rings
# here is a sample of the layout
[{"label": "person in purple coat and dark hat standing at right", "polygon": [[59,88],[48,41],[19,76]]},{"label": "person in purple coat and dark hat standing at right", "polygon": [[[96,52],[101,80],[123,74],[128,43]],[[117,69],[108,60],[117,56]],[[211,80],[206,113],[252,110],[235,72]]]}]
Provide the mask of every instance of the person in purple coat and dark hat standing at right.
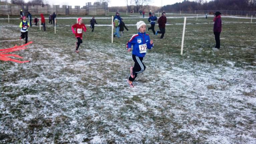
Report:
[{"label": "person in purple coat and dark hat standing at right", "polygon": [[215,41],[216,41],[215,48],[220,49],[221,13],[217,11],[214,15],[215,17],[213,19],[214,21],[213,33],[215,35]]}]

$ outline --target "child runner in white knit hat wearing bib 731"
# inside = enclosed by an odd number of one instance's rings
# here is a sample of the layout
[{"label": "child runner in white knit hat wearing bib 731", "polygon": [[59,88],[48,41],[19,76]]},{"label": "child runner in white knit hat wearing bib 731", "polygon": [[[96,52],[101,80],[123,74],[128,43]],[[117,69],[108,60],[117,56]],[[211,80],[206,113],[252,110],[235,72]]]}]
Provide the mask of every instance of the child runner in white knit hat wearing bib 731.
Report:
[{"label": "child runner in white knit hat wearing bib 731", "polygon": [[132,50],[133,45],[132,57],[135,62],[134,66],[130,67],[130,77],[127,80],[130,87],[134,87],[133,81],[136,79],[138,73],[142,73],[146,69],[142,60],[147,53],[147,49],[151,49],[154,46],[153,40],[150,40],[149,35],[146,34],[146,23],[139,21],[136,26],[139,30],[138,34],[133,35],[126,44],[128,52]]}]

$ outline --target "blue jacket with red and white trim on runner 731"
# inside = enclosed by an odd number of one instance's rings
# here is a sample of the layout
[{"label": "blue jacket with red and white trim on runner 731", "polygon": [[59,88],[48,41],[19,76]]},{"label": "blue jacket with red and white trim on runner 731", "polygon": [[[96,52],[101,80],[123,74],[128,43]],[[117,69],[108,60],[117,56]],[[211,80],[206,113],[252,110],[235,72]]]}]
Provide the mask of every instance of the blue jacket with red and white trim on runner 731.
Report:
[{"label": "blue jacket with red and white trim on runner 731", "polygon": [[138,33],[132,36],[129,42],[126,44],[126,48],[132,48],[133,45],[133,54],[138,57],[144,57],[146,55],[145,53],[140,52],[140,46],[143,44],[147,44],[147,49],[151,49],[154,44],[150,44],[150,37],[148,34],[145,33]]}]

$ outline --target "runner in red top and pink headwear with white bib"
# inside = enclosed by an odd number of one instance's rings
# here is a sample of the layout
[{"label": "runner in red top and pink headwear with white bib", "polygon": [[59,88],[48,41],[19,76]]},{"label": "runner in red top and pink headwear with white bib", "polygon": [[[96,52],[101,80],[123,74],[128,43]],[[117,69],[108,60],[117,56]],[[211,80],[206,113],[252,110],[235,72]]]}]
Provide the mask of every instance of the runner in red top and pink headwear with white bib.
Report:
[{"label": "runner in red top and pink headwear with white bib", "polygon": [[[83,37],[83,31],[86,32],[86,27],[85,25],[82,23],[82,18],[78,18],[78,23],[72,25],[71,29],[72,32],[75,34],[75,37],[77,39],[77,42],[75,43],[75,52],[78,53],[78,48],[80,46],[81,43],[83,43],[82,41],[82,37]],[[74,28],[76,29],[76,31],[74,30]]]}]

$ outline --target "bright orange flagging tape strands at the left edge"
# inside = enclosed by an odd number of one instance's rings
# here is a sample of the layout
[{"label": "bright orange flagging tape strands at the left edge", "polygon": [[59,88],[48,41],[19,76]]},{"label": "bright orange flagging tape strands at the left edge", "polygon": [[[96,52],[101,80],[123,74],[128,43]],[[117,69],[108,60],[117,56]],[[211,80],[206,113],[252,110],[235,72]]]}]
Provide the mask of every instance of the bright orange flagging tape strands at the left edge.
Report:
[{"label": "bright orange flagging tape strands at the left edge", "polygon": [[16,55],[16,54],[1,54],[1,53],[8,53],[8,52],[13,52],[13,51],[18,51],[18,50],[26,49],[27,47],[25,47],[25,46],[27,46],[27,45],[29,45],[31,43],[33,43],[33,42],[31,41],[31,42],[26,43],[26,44],[21,45],[21,46],[15,45],[12,48],[0,49],[0,51],[2,51],[2,52],[0,52],[0,60],[2,60],[2,61],[13,61],[13,62],[16,62],[16,63],[29,62],[29,61],[19,61],[19,60],[16,60],[16,59],[9,58],[11,56],[12,57],[17,57],[17,58],[23,58],[23,57],[21,57],[19,55]]}]

